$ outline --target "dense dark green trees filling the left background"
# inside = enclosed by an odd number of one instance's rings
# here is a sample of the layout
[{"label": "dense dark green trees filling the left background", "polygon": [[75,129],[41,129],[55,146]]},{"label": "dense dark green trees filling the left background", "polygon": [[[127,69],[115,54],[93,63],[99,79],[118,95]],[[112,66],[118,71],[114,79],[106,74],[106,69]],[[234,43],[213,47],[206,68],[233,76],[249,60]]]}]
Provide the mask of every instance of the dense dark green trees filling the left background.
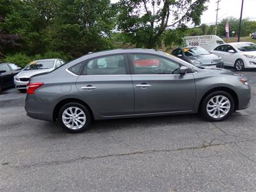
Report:
[{"label": "dense dark green trees filling the left background", "polygon": [[[0,55],[38,58],[61,52],[58,58],[69,60],[90,51],[111,49],[112,6],[109,0],[0,0],[0,33],[20,37],[20,47],[15,49],[6,46],[10,38],[0,40]],[[19,52],[22,54],[15,54]]]}]

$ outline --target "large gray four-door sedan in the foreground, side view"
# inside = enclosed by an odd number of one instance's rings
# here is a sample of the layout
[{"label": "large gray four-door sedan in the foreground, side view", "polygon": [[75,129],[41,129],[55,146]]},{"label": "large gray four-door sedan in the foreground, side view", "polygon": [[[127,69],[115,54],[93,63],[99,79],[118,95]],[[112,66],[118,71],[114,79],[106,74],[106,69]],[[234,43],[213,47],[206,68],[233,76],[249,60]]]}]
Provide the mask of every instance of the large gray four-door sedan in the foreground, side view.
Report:
[{"label": "large gray four-door sedan in the foreground, side view", "polygon": [[210,121],[248,108],[246,77],[222,68],[196,67],[164,52],[95,52],[48,74],[31,77],[28,116],[58,120],[69,132],[93,120],[201,112]]}]

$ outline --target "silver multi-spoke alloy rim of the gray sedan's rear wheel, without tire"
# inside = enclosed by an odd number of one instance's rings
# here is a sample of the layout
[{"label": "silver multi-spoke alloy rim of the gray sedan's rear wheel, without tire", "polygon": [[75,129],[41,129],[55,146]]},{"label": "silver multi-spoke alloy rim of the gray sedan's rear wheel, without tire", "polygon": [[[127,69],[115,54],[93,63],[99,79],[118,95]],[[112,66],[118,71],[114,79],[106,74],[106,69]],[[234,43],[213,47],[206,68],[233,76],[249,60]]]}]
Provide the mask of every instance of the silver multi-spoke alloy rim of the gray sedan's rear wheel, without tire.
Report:
[{"label": "silver multi-spoke alloy rim of the gray sedan's rear wheel, without tire", "polygon": [[62,122],[69,129],[81,129],[86,123],[86,115],[84,111],[77,107],[70,107],[63,111]]}]

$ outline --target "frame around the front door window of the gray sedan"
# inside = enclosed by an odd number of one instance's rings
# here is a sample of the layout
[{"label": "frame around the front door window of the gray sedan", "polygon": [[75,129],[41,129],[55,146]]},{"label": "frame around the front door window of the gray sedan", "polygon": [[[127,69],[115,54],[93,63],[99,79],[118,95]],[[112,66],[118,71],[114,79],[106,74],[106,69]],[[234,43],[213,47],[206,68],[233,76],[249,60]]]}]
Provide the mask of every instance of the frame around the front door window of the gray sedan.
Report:
[{"label": "frame around the front door window of the gray sedan", "polygon": [[[177,76],[179,74],[135,74],[134,66],[132,65],[132,60],[131,60],[131,54],[146,54],[146,55],[151,55],[151,56],[157,56],[159,58],[163,58],[164,60],[168,60],[168,61],[171,61],[173,63],[177,63],[180,66],[184,66],[181,63],[178,63],[177,61],[171,60],[170,58],[167,58],[167,57],[164,57],[164,56],[160,56],[160,55],[157,55],[157,54],[145,53],[145,52],[129,52],[127,54],[127,58],[128,58],[128,61],[129,61],[129,67],[131,68],[131,74],[133,76]],[[194,72],[196,72],[193,68],[189,68],[189,69],[191,71],[193,71],[193,72],[191,72],[189,74],[193,74]]]}]

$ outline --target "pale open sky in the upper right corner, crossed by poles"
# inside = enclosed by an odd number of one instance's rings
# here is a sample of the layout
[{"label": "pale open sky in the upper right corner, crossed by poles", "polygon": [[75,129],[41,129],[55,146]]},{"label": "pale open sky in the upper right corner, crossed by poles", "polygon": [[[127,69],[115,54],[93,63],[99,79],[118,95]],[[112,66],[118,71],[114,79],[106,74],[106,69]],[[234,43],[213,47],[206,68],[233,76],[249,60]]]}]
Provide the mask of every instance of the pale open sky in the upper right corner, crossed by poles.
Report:
[{"label": "pale open sky in the upper right corner, crossed by poles", "polygon": [[[111,3],[116,3],[118,0],[111,0]],[[216,22],[216,8],[218,0],[210,0],[208,10],[205,11],[201,17],[202,24],[215,24]],[[226,17],[240,17],[242,0],[221,0],[219,4],[218,21]],[[243,18],[250,18],[256,20],[256,0],[244,0]]]}]

